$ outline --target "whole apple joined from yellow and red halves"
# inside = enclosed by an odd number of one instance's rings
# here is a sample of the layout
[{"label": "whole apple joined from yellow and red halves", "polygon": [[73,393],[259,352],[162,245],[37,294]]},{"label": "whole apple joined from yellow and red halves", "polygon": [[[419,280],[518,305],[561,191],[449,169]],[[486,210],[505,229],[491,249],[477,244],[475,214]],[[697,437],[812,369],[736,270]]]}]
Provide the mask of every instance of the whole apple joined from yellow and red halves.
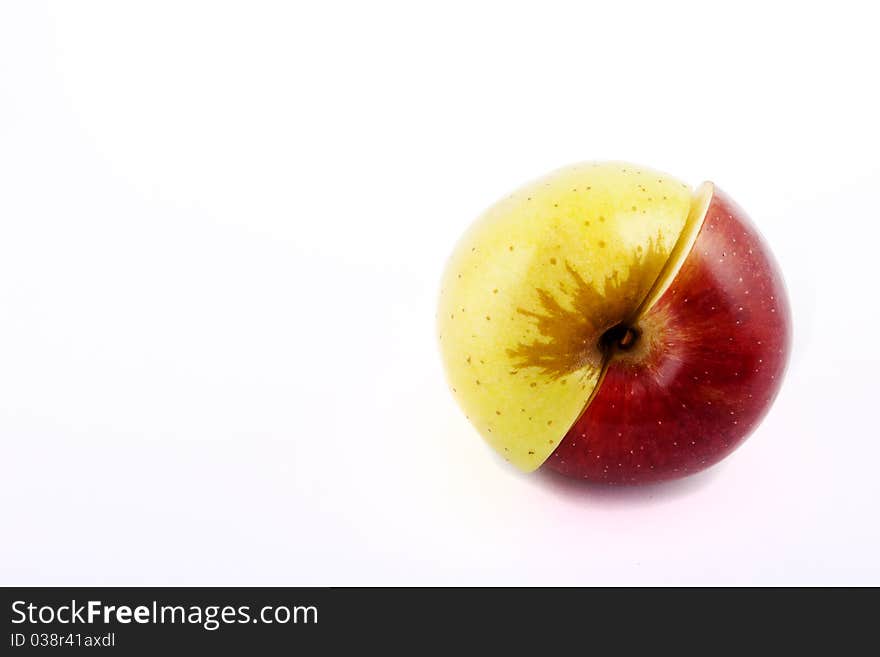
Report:
[{"label": "whole apple joined from yellow and red halves", "polygon": [[521,187],[465,233],[443,275],[453,395],[523,471],[673,479],[732,452],[782,382],[782,276],[743,210],[620,162]]}]

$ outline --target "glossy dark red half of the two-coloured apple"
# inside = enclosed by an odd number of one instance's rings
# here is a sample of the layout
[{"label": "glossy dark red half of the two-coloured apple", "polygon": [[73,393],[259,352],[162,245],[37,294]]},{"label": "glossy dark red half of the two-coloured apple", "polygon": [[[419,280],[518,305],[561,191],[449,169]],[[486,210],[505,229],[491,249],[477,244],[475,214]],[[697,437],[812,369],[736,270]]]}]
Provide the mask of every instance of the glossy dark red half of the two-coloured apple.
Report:
[{"label": "glossy dark red half of the two-coloured apple", "polygon": [[637,328],[641,344],[612,357],[546,467],[612,484],[675,479],[723,459],[767,413],[791,344],[788,299],[760,234],[717,189]]}]

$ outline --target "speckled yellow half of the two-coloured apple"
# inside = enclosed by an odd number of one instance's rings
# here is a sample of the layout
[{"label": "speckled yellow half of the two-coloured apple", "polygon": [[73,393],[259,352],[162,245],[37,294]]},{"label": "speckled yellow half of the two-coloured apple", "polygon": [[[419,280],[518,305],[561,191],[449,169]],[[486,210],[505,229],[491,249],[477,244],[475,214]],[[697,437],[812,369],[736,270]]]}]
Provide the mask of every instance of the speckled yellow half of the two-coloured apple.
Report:
[{"label": "speckled yellow half of the two-coloured apple", "polygon": [[447,379],[519,469],[538,468],[586,407],[601,335],[645,300],[691,199],[657,171],[578,164],[502,199],[456,245],[437,316]]}]

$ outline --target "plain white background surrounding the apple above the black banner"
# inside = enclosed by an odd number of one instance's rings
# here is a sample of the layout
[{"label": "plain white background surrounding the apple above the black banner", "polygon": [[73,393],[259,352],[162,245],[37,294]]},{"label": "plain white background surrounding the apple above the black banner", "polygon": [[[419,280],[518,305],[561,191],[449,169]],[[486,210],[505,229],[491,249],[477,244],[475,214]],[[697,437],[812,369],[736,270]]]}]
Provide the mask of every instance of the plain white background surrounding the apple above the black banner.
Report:
[{"label": "plain white background surrounding the apple above the black banner", "polygon": [[[880,584],[877,17],[725,5],[4,3],[0,583]],[[468,223],[607,158],[714,180],[791,293],[678,483],[517,473],[435,345]]]}]

